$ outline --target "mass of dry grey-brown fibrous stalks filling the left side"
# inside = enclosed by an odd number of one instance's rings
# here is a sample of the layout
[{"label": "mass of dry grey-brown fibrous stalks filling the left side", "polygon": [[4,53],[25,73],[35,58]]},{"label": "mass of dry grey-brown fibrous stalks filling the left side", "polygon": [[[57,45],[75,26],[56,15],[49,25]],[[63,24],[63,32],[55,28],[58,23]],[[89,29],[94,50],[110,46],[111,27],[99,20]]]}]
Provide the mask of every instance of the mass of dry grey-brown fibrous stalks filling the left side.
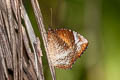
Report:
[{"label": "mass of dry grey-brown fibrous stalks filling the left side", "polygon": [[0,80],[44,80],[41,56],[22,0],[0,0]]}]

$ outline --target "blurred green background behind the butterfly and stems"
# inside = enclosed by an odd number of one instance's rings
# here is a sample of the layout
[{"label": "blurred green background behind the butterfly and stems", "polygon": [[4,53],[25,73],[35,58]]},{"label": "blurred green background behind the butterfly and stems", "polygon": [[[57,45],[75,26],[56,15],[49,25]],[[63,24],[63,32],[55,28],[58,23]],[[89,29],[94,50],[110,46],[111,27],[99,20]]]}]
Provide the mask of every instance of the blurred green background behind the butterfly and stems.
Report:
[{"label": "blurred green background behind the butterfly and stems", "polygon": [[[29,1],[24,4],[40,36]],[[52,28],[74,30],[89,41],[72,69],[56,69],[57,80],[120,80],[120,0],[39,0],[39,4],[46,29],[52,8]],[[45,51],[43,55],[45,79],[52,80]]]}]

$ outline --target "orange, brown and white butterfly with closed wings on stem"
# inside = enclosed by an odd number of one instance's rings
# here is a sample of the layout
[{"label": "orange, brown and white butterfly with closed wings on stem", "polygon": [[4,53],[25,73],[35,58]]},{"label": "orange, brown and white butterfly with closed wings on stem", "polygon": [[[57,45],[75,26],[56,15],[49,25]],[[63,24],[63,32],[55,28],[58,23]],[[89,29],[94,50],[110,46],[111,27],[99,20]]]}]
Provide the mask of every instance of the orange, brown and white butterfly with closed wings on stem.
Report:
[{"label": "orange, brown and white butterfly with closed wings on stem", "polygon": [[49,29],[47,37],[50,61],[58,68],[71,68],[88,46],[87,39],[68,29]]}]

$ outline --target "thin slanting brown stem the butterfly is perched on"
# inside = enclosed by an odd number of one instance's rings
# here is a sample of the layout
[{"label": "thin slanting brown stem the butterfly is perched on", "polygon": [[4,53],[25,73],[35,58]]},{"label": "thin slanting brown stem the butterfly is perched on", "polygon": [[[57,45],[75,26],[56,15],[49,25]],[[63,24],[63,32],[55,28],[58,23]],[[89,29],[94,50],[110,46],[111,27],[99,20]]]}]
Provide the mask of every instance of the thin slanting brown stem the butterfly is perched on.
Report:
[{"label": "thin slanting brown stem the butterfly is perched on", "polygon": [[44,24],[43,24],[43,18],[42,18],[41,10],[40,10],[40,7],[39,7],[39,4],[38,4],[37,0],[31,0],[31,3],[32,3],[32,7],[33,7],[33,10],[34,10],[34,13],[35,13],[35,18],[37,20],[39,31],[41,32],[42,39],[43,39],[43,42],[44,42],[44,46],[45,46],[45,50],[46,50],[46,54],[47,54],[47,59],[48,59],[48,64],[49,64],[51,75],[52,75],[52,79],[56,80],[55,69],[51,65],[51,61],[50,61],[50,58],[49,58],[49,51],[47,49],[47,43],[48,43],[47,34],[46,34],[46,30],[45,30],[45,27],[44,27]]}]

